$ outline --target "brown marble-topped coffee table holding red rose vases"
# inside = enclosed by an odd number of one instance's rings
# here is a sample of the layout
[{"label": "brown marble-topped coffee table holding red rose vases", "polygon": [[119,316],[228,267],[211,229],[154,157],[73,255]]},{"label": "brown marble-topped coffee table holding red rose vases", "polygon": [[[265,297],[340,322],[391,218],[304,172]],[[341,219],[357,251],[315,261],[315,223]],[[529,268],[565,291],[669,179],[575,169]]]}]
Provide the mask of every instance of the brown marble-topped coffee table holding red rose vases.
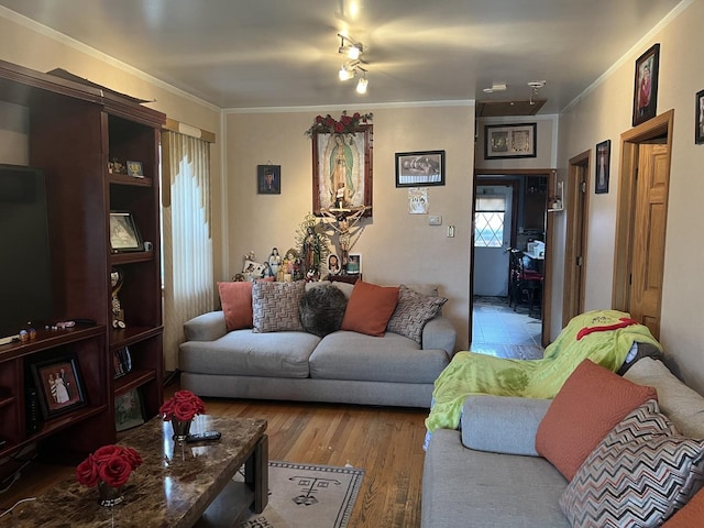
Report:
[{"label": "brown marble-topped coffee table holding red rose vases", "polygon": [[[69,477],[28,503],[10,526],[231,527],[248,507],[261,513],[268,493],[266,420],[196,417],[193,432],[217,430],[215,442],[177,443],[170,422],[153,418],[120,444],[144,460],[124,485],[124,501],[98,505],[98,491]],[[244,482],[232,477],[244,465]]]}]

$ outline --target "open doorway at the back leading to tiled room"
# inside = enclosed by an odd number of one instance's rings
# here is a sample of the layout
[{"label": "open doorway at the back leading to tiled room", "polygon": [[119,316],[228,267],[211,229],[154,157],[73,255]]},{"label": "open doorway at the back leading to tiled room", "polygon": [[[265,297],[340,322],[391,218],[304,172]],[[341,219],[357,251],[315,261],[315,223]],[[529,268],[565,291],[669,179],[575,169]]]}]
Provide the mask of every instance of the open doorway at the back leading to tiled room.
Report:
[{"label": "open doorway at the back leading to tiled room", "polygon": [[[525,355],[535,358],[535,349],[539,349],[541,354],[547,344],[552,237],[552,221],[547,211],[548,197],[554,195],[553,177],[551,169],[475,172],[469,324],[472,350],[484,352],[479,349],[485,349],[487,343],[496,345],[496,350],[485,351],[487,353],[496,353],[503,346],[515,350],[525,345]],[[510,201],[507,199],[509,194]],[[492,200],[497,197],[502,197],[505,204],[503,210],[497,205],[502,200]],[[487,230],[492,231],[493,228],[494,233],[498,232],[497,223],[491,226],[491,221],[494,216],[502,213],[504,234],[499,240],[497,234],[491,234]],[[509,233],[505,233],[507,229],[510,229]],[[487,248],[487,241],[491,241],[492,248]],[[531,310],[528,305],[509,306],[512,249],[520,249],[525,253],[530,250],[531,257],[526,256],[526,265],[538,268],[544,277],[537,310]]]}]

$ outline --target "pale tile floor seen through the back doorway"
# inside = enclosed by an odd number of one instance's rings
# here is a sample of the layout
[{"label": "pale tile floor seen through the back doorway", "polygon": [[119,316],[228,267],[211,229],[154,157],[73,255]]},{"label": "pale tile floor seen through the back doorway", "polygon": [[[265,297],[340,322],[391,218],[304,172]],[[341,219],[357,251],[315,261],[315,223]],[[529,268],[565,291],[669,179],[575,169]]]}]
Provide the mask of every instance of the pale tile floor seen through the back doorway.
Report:
[{"label": "pale tile floor seen through the back doorway", "polygon": [[541,321],[514,311],[506,297],[474,297],[472,352],[516,360],[542,358]]}]

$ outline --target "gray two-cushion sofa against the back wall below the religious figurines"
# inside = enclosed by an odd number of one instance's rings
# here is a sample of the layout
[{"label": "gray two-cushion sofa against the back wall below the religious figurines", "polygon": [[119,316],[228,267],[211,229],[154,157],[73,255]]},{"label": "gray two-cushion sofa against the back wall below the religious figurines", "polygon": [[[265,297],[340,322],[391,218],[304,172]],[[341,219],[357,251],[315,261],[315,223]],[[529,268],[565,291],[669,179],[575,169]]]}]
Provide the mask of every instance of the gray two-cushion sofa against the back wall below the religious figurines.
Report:
[{"label": "gray two-cushion sofa against the back wall below the religious figurines", "polygon": [[[345,295],[352,285],[338,284]],[[422,344],[387,331],[228,332],[222,311],[184,327],[180,386],[200,396],[429,408],[433,382],[454,353],[455,329],[438,316]]]}]

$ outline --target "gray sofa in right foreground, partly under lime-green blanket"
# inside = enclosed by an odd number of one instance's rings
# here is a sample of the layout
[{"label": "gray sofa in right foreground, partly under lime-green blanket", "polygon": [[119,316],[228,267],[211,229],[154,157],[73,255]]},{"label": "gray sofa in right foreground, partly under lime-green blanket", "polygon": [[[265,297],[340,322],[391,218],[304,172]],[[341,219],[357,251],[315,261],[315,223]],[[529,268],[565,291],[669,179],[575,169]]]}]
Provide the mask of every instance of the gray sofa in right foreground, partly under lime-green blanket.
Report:
[{"label": "gray sofa in right foreground, partly under lime-green blanket", "polygon": [[[704,398],[660,361],[642,358],[624,377],[656,387],[661,411],[683,435],[704,439]],[[535,451],[550,402],[468,397],[461,431],[439,429],[430,439],[421,527],[569,528],[559,505],[568,481]]]}]

